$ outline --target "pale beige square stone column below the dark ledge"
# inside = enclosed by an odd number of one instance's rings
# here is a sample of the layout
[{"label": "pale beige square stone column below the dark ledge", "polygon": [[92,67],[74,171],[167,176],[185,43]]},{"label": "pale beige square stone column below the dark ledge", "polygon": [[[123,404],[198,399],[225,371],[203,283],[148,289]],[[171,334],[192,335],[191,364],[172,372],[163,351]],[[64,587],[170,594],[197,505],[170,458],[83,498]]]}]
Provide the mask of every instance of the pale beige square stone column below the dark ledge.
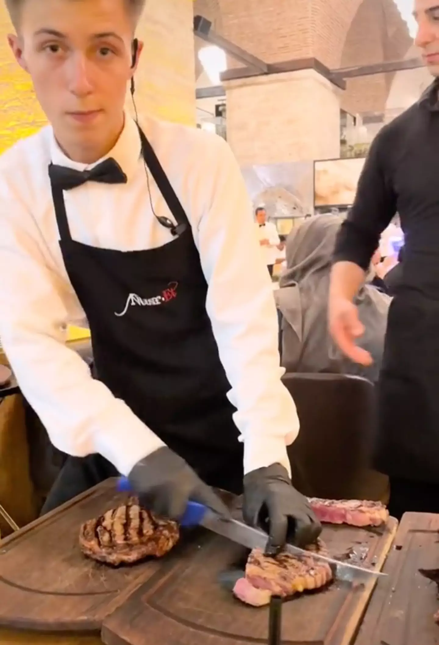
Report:
[{"label": "pale beige square stone column below the dark ledge", "polygon": [[240,166],[340,156],[340,94],[314,70],[226,81],[227,136]]}]

